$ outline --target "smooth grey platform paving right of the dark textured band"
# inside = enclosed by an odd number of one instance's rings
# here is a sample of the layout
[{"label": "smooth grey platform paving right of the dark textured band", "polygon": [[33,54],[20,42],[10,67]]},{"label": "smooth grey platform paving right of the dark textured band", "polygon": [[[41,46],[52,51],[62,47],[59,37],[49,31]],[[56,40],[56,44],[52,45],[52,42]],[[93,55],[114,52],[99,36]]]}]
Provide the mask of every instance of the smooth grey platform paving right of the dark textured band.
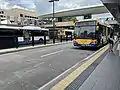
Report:
[{"label": "smooth grey platform paving right of the dark textured band", "polygon": [[120,90],[118,51],[109,53],[78,90]]}]

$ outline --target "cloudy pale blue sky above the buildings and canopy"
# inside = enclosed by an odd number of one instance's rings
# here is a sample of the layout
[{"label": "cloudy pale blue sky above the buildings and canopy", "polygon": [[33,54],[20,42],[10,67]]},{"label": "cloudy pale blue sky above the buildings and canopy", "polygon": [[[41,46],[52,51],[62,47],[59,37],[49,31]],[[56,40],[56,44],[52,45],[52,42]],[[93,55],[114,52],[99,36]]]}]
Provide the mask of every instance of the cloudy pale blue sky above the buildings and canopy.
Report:
[{"label": "cloudy pale blue sky above the buildings and canopy", "polygon": [[[49,0],[0,0],[0,8],[24,8],[34,10],[38,15],[42,15],[52,12],[52,3],[48,1]],[[55,11],[64,11],[98,4],[102,4],[100,0],[59,0],[59,2],[55,2]]]}]

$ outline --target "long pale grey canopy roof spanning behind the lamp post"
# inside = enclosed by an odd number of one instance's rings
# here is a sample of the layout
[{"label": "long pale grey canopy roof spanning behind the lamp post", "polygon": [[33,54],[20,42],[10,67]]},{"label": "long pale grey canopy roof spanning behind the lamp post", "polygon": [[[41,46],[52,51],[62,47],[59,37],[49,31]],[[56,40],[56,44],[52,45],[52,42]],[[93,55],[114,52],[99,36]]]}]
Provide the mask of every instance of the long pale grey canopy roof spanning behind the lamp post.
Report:
[{"label": "long pale grey canopy roof spanning behind the lamp post", "polygon": [[[83,16],[87,14],[102,14],[108,12],[109,12],[108,9],[104,5],[100,4],[100,5],[86,6],[80,9],[56,12],[55,17]],[[40,15],[39,17],[51,18],[53,17],[53,14],[50,13],[50,14]]]}]

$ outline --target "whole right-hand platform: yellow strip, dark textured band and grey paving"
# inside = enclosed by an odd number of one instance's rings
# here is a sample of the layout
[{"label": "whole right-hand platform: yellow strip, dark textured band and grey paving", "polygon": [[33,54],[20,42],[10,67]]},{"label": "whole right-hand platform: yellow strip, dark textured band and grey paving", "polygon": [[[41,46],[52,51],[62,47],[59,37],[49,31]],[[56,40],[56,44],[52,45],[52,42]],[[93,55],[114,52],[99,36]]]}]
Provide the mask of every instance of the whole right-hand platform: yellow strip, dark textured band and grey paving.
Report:
[{"label": "whole right-hand platform: yellow strip, dark textured band and grey paving", "polygon": [[93,56],[96,60],[90,59],[93,60],[91,64],[89,64],[91,61],[88,60],[85,65],[75,70],[76,73],[73,71],[51,90],[120,90],[118,45],[119,42],[114,47],[114,52],[109,52],[109,48],[106,50],[103,48],[100,56],[97,55],[99,53]]}]

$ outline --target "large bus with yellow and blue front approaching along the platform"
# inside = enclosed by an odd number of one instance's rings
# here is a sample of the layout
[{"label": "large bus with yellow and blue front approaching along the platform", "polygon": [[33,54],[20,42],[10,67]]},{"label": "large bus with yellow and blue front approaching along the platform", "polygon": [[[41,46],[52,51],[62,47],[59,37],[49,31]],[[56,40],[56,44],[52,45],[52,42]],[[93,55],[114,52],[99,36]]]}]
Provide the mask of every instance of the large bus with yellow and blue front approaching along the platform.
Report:
[{"label": "large bus with yellow and blue front approaching along the platform", "polygon": [[112,27],[98,20],[84,20],[75,23],[74,46],[99,47],[108,42]]}]

